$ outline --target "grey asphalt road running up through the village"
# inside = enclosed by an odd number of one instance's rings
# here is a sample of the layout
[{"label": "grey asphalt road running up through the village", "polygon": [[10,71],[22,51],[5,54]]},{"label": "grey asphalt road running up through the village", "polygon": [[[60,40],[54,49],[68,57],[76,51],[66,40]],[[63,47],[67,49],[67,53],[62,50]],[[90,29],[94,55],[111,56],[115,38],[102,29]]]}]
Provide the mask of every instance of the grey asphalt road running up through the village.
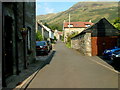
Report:
[{"label": "grey asphalt road running up through the village", "polygon": [[50,64],[39,71],[28,88],[118,88],[118,73],[59,41]]}]

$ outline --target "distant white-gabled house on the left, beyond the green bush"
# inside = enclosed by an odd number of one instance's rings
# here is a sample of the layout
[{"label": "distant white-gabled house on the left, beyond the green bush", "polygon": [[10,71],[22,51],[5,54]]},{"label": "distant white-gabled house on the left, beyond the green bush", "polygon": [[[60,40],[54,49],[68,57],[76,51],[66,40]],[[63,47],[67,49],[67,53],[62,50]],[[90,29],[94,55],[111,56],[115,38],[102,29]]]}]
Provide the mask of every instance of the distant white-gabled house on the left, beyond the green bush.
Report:
[{"label": "distant white-gabled house on the left, beyond the green bush", "polygon": [[54,31],[43,25],[42,23],[37,22],[36,31],[39,30],[43,36],[44,40],[53,40],[54,39]]}]

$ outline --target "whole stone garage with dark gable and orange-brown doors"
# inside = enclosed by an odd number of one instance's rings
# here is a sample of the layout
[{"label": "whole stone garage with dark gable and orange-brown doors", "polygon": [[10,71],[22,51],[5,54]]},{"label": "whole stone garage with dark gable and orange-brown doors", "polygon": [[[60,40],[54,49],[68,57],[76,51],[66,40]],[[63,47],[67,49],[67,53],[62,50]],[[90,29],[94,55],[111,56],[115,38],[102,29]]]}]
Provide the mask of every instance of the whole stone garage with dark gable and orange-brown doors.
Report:
[{"label": "whole stone garage with dark gable and orange-brown doors", "polygon": [[114,46],[119,46],[119,30],[108,20],[102,18],[94,25],[86,28],[78,35],[71,38],[72,48],[85,55],[102,55],[103,51]]}]

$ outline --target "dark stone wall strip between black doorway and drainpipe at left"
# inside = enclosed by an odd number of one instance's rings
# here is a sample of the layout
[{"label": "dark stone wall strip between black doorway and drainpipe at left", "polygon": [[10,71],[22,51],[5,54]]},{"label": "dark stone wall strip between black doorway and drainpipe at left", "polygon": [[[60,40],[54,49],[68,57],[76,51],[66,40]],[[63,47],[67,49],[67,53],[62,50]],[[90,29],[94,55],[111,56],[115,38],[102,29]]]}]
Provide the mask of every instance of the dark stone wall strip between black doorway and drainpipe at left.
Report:
[{"label": "dark stone wall strip between black doorway and drainpipe at left", "polygon": [[16,41],[17,42],[17,52],[18,53],[18,63],[19,63],[19,70],[22,71],[24,69],[24,43],[23,43],[23,38],[21,35],[21,28],[23,28],[23,3],[18,3],[17,4],[17,32],[20,34],[18,38],[21,40]]}]

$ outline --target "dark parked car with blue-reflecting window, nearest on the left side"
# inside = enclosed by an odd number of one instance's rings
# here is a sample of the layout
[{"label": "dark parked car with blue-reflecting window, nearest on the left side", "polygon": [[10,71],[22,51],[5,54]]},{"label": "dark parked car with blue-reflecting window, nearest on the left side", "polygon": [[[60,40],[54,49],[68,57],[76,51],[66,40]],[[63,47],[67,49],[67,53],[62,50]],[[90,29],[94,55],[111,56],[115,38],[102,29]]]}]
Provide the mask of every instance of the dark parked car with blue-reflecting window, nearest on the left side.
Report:
[{"label": "dark parked car with blue-reflecting window, nearest on the left side", "polygon": [[49,47],[46,41],[36,41],[36,53],[48,54]]}]

